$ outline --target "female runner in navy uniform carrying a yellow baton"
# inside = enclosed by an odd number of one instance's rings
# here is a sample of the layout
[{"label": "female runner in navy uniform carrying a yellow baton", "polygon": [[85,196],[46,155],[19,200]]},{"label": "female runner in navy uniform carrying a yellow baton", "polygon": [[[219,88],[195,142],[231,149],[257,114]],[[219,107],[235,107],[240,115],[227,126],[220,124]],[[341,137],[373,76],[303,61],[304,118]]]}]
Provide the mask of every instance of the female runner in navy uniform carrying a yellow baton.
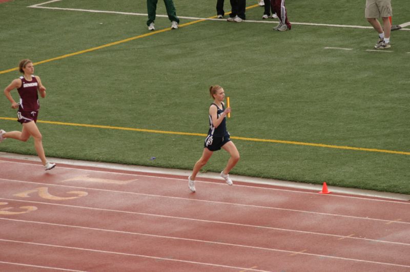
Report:
[{"label": "female runner in navy uniform carrying a yellow baton", "polygon": [[226,116],[231,112],[231,108],[225,108],[225,104],[222,102],[225,98],[225,92],[218,85],[211,86],[209,92],[214,99],[209,107],[209,132],[205,139],[202,157],[195,163],[192,175],[188,177],[189,189],[192,192],[195,192],[196,175],[207,164],[214,151],[223,148],[231,155],[226,168],[220,174],[229,185],[232,185],[229,172],[239,160],[239,152],[229,138],[229,132],[227,131]]}]

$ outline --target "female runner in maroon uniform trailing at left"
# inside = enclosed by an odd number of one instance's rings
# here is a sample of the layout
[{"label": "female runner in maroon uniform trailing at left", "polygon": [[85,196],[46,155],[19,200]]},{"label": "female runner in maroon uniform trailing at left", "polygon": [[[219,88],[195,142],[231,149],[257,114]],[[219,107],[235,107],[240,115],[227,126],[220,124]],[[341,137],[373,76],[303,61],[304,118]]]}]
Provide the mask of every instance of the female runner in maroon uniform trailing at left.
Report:
[{"label": "female runner in maroon uniform trailing at left", "polygon": [[[11,102],[11,108],[18,108],[17,121],[23,124],[23,130],[22,132],[5,132],[4,130],[0,130],[0,141],[6,138],[13,138],[25,142],[30,136],[33,136],[34,147],[38,157],[42,160],[44,169],[50,170],[54,168],[55,163],[47,161],[43,149],[42,134],[35,124],[37,121],[38,109],[40,108],[37,92],[40,93],[41,97],[45,98],[46,87],[43,86],[42,81],[38,76],[33,75],[34,66],[30,59],[23,59],[20,61],[18,68],[20,73],[23,73],[24,75],[14,79],[10,85],[4,89],[4,94]],[[14,101],[10,94],[13,89],[17,89],[18,94],[20,95],[19,103]]]}]

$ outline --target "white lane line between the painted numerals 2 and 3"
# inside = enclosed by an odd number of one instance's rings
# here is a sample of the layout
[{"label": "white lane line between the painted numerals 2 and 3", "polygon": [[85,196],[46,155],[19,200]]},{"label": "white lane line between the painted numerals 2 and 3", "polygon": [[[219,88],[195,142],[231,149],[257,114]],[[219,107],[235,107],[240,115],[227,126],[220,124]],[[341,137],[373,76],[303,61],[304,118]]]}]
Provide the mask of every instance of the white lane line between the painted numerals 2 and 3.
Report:
[{"label": "white lane line between the painted numerals 2 and 3", "polygon": [[[286,229],[286,228],[278,228],[278,227],[270,227],[270,226],[258,226],[258,225],[249,225],[249,224],[223,222],[223,221],[213,221],[213,220],[206,220],[206,219],[195,219],[195,218],[188,218],[188,217],[177,217],[177,216],[169,216],[169,215],[156,215],[156,214],[128,212],[128,211],[120,211],[120,210],[110,210],[110,209],[105,209],[105,208],[93,208],[93,207],[74,206],[74,205],[67,205],[67,204],[45,203],[45,202],[38,202],[38,201],[24,201],[24,200],[16,200],[16,201],[36,203],[36,204],[44,204],[44,205],[53,205],[53,206],[63,206],[63,207],[69,207],[69,208],[80,208],[80,209],[91,210],[91,211],[103,211],[103,212],[110,212],[110,213],[124,213],[124,214],[152,216],[152,217],[159,217],[159,218],[171,218],[171,219],[177,219],[177,220],[187,220],[187,221],[204,222],[204,223],[212,223],[212,224],[222,224],[222,225],[232,225],[232,226],[250,227],[250,228],[273,229],[274,231],[293,232],[293,233],[300,233],[300,234],[312,234],[312,235],[329,236],[329,237],[335,237],[335,238],[342,238],[342,237],[345,238],[346,237],[344,235],[315,233],[315,232],[308,232],[308,231],[297,231],[295,229]],[[7,219],[7,218],[1,218],[1,217],[0,217],[0,219],[1,220],[17,220],[17,219]],[[393,242],[393,241],[386,241],[386,240],[375,240],[375,239],[369,239],[369,238],[360,238],[360,237],[349,237],[349,238],[350,239],[356,239],[356,240],[370,241],[370,242],[375,242],[375,243],[388,243],[388,244],[398,244],[398,245],[406,245],[406,246],[410,245],[408,243]]]}]

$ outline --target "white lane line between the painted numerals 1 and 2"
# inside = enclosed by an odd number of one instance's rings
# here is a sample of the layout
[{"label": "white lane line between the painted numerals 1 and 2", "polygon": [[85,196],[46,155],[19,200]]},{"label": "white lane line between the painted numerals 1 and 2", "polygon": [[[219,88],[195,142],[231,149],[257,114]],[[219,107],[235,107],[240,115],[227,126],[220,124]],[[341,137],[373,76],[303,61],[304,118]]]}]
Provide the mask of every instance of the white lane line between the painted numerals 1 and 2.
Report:
[{"label": "white lane line between the painted numerals 1 and 2", "polygon": [[[3,178],[2,178],[3,179]],[[324,215],[324,216],[334,216],[334,217],[344,217],[344,218],[353,218],[353,219],[363,219],[363,220],[374,220],[374,221],[381,221],[381,222],[391,222],[392,220],[386,219],[378,219],[378,218],[370,218],[370,217],[360,217],[360,216],[351,216],[351,215],[338,215],[338,214],[329,214],[329,213],[319,213],[319,212],[311,212],[311,211],[303,211],[303,210],[295,210],[290,208],[278,208],[278,207],[270,207],[270,206],[260,206],[260,205],[250,205],[250,204],[241,204],[241,203],[232,203],[232,202],[223,202],[223,201],[214,201],[214,200],[205,200],[205,199],[194,199],[194,198],[186,198],[186,197],[174,197],[174,196],[162,196],[162,195],[153,195],[153,194],[144,194],[144,193],[135,193],[135,192],[125,192],[125,191],[117,191],[117,190],[108,190],[108,189],[98,189],[92,187],[81,187],[81,186],[72,186],[72,185],[60,185],[60,184],[51,184],[51,183],[42,183],[42,182],[32,182],[32,181],[22,181],[22,180],[10,180],[10,179],[3,179],[9,180],[12,182],[20,182],[20,183],[30,183],[30,184],[40,184],[40,185],[48,185],[48,186],[60,186],[60,187],[69,187],[75,189],[83,189],[83,190],[95,190],[101,192],[109,192],[109,193],[120,193],[120,194],[130,194],[130,195],[138,195],[138,196],[148,196],[148,197],[158,197],[158,198],[170,198],[170,199],[177,199],[177,200],[188,200],[188,201],[197,201],[197,202],[205,202],[205,203],[213,203],[213,204],[223,204],[223,205],[233,205],[233,206],[240,206],[240,207],[251,207],[251,208],[262,208],[267,210],[278,210],[278,211],[288,211],[288,212],[296,212],[296,213],[304,213],[304,214],[313,214],[313,215]],[[226,186],[225,184],[223,184]],[[0,198],[2,199],[2,198]],[[4,198],[6,199],[6,198]],[[13,199],[16,200],[16,199]],[[410,222],[399,222],[398,224],[410,224]]]}]

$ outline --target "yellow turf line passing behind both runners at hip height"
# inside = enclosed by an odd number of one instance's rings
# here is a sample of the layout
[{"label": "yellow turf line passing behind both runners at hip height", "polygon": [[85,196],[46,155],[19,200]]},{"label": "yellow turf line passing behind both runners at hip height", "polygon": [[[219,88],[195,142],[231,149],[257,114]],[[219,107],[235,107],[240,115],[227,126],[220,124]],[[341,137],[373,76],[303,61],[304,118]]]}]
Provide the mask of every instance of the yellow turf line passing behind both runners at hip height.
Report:
[{"label": "yellow turf line passing behind both runners at hip height", "polygon": [[[9,118],[9,117],[0,117],[0,120],[1,119],[3,119],[3,120],[12,120],[12,121],[17,120],[17,118]],[[134,129],[134,128],[114,127],[112,125],[65,123],[65,122],[43,121],[43,120],[37,120],[37,122],[38,123],[47,123],[47,124],[57,124],[57,125],[71,125],[73,127],[85,127],[85,128],[126,130],[126,131],[138,131],[138,132],[159,133],[159,134],[174,134],[174,135],[187,135],[187,136],[201,136],[201,137],[206,137],[207,136],[207,134],[204,134],[204,133]],[[370,148],[355,148],[355,147],[346,147],[346,146],[341,146],[341,145],[331,145],[331,144],[322,144],[322,143],[283,141],[283,140],[273,140],[273,139],[258,139],[258,138],[247,138],[247,137],[237,137],[237,136],[231,136],[231,139],[242,140],[242,141],[253,141],[253,142],[273,142],[273,143],[284,143],[284,144],[308,145],[310,147],[320,147],[320,148],[333,148],[333,149],[345,149],[345,150],[356,150],[356,151],[368,151],[368,152],[380,152],[380,153],[410,155],[410,152],[403,152],[403,151],[384,150],[384,149],[370,149]]]}]

